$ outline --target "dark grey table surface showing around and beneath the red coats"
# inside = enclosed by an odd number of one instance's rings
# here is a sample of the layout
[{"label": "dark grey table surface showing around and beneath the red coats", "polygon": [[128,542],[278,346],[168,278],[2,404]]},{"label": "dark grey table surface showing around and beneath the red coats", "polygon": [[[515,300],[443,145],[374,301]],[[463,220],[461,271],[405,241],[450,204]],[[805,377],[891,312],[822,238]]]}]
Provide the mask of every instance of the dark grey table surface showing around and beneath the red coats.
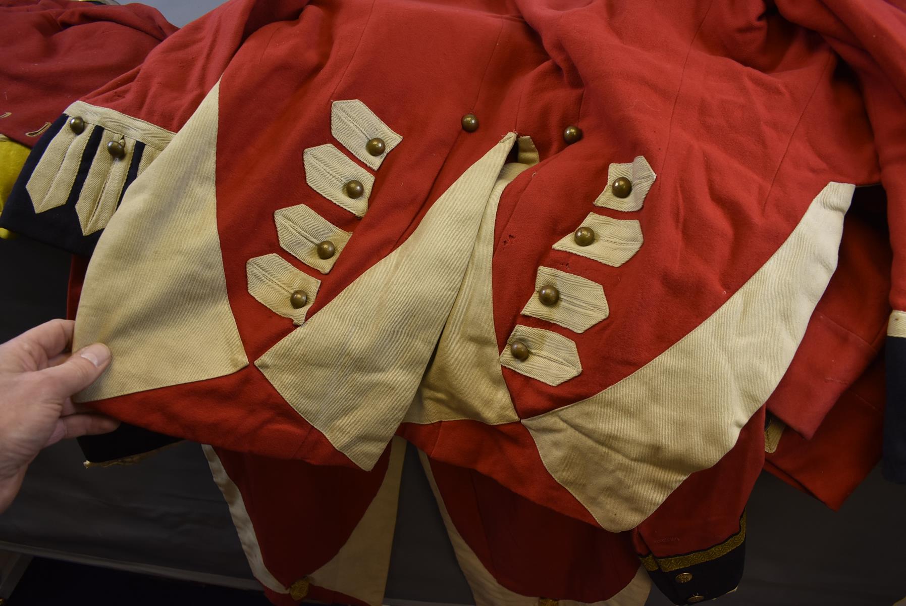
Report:
[{"label": "dark grey table surface showing around and beneath the red coats", "polygon": [[[183,25],[221,3],[146,4]],[[0,341],[63,316],[68,264],[68,255],[24,238],[0,241]],[[471,603],[412,454],[404,471],[388,597]],[[140,466],[92,470],[82,467],[73,443],[46,449],[20,498],[0,516],[0,542],[140,568],[251,579],[226,504],[194,444],[173,447]],[[906,486],[886,483],[875,472],[834,513],[763,475],[748,509],[747,543],[746,575],[722,604],[890,606],[906,596]],[[649,601],[668,603],[657,594]]]}]

